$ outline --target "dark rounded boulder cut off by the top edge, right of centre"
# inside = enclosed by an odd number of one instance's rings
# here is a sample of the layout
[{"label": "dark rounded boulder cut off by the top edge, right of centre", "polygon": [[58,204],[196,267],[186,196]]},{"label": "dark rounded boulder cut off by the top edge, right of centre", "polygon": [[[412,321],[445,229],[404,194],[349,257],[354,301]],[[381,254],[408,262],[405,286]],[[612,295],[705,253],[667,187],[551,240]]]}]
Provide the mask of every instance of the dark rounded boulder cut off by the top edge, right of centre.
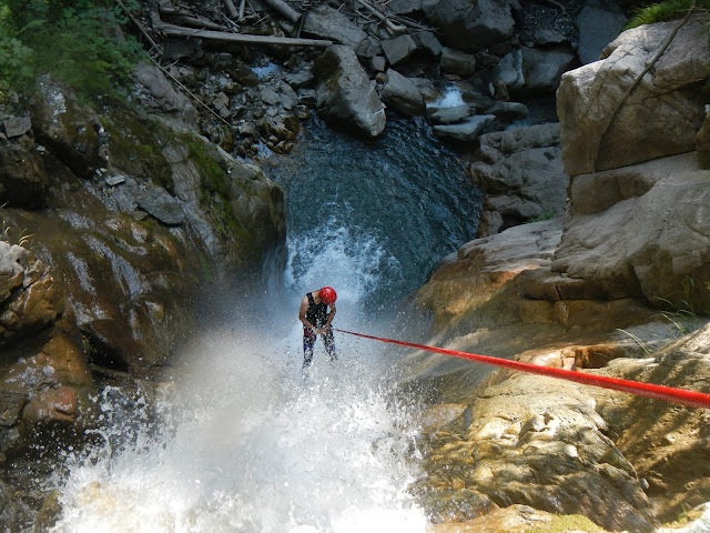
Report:
[{"label": "dark rounded boulder cut off by the top edge, right of centre", "polygon": [[439,0],[423,8],[444,42],[466,52],[503,42],[515,28],[507,0]]}]

